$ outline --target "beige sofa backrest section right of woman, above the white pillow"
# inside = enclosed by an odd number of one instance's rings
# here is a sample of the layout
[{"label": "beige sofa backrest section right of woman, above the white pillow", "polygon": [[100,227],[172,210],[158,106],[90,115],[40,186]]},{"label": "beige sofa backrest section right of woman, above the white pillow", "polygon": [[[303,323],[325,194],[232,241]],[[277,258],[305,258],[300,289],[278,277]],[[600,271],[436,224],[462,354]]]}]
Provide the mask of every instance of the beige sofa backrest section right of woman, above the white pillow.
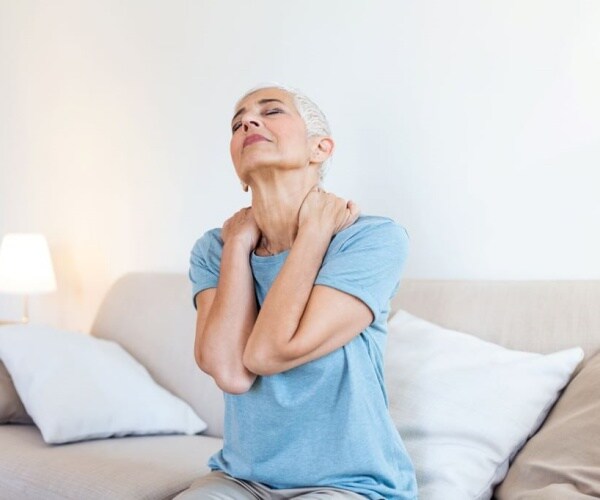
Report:
[{"label": "beige sofa backrest section right of woman, above the white pillow", "polygon": [[521,351],[600,351],[600,280],[406,279],[392,301],[445,328]]}]

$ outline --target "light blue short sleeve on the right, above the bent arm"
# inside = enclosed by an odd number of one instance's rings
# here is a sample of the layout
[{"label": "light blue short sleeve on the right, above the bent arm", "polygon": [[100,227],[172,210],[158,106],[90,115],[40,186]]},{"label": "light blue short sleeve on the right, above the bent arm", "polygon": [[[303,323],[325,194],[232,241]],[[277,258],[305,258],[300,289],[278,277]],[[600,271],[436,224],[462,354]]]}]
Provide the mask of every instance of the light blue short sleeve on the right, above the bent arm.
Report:
[{"label": "light blue short sleeve on the right, above the bent arm", "polygon": [[362,300],[374,322],[389,311],[408,257],[409,236],[392,219],[360,227],[331,255],[326,254],[315,285],[326,285]]}]

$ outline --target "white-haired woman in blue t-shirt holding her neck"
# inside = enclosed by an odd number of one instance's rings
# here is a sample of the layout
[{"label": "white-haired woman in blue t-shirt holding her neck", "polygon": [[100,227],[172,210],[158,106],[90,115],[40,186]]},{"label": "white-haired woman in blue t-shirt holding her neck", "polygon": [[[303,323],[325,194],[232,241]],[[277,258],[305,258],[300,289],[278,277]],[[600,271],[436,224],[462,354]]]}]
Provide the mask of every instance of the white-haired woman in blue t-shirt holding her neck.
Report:
[{"label": "white-haired woman in blue t-shirt holding her neck", "polygon": [[408,234],[321,187],[319,108],[251,89],[231,158],[252,205],[194,245],[195,357],[225,395],[223,448],[177,498],[417,498],[387,408],[383,350]]}]

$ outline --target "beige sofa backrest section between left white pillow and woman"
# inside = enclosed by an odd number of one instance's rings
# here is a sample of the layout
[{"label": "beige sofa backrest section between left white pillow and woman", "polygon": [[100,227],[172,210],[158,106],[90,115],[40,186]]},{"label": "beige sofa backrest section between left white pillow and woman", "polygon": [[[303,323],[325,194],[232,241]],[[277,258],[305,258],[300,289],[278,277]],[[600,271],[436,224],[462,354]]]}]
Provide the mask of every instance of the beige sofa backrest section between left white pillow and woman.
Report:
[{"label": "beige sofa backrest section between left white pillow and woman", "polygon": [[196,309],[191,283],[179,273],[129,273],[109,289],[91,333],[115,340],[165,389],[187,401],[223,435],[223,393],[194,359]]}]

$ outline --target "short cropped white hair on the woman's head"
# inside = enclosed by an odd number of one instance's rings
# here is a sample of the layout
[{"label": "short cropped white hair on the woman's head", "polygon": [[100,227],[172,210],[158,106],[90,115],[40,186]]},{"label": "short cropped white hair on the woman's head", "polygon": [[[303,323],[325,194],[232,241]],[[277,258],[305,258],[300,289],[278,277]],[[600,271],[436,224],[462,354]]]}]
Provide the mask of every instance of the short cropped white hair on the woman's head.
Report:
[{"label": "short cropped white hair on the woman's head", "polygon": [[[242,97],[238,99],[235,104],[234,112],[237,110],[241,101],[243,101],[246,97],[254,92],[262,89],[268,88],[276,88],[280,90],[285,90],[287,93],[291,94],[294,98],[294,104],[298,111],[298,114],[304,121],[304,125],[306,126],[306,133],[308,137],[315,136],[331,136],[331,128],[329,127],[329,122],[327,121],[327,117],[321,111],[319,106],[315,104],[313,100],[311,100],[306,94],[302,91],[289,87],[288,85],[283,85],[277,82],[265,82],[252,87],[248,90]],[[329,156],[322,164],[319,169],[319,181],[323,182],[325,178],[325,174],[329,169],[331,164],[331,156]]]}]

